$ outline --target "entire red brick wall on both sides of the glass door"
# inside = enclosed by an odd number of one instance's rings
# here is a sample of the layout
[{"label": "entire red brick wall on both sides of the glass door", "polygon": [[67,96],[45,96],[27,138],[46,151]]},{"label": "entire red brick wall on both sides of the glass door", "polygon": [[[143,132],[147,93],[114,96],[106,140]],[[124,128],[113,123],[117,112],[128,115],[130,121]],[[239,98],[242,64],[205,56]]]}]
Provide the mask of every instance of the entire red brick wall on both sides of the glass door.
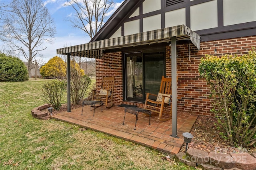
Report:
[{"label": "entire red brick wall on both sides of the glass door", "polygon": [[[197,113],[203,115],[213,115],[210,112],[211,100],[208,98],[210,89],[204,79],[200,78],[198,73],[198,64],[200,59],[205,57],[205,54],[214,55],[216,44],[216,56],[225,54],[242,55],[256,47],[256,36],[240,37],[236,39],[224,39],[218,41],[202,42],[200,44],[201,50],[198,51],[196,47],[190,43],[190,51],[188,51],[188,44],[177,45],[177,110]],[[166,46],[166,76],[171,77],[171,47]],[[122,53],[108,53],[104,54],[102,59],[96,60],[96,81],[97,88],[100,88],[102,76],[115,76],[115,91],[114,102],[129,104],[129,102],[122,102],[123,86],[122,86]],[[142,104],[136,103],[142,106]]]}]

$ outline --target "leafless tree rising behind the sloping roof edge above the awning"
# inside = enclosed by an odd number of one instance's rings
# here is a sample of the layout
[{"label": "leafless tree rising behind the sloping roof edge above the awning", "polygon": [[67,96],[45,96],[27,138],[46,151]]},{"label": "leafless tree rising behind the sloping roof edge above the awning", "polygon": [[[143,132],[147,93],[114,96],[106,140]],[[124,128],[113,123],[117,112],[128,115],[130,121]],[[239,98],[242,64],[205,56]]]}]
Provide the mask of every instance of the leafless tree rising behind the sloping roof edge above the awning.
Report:
[{"label": "leafless tree rising behind the sloping roof edge above the awning", "polygon": [[107,12],[113,4],[113,0],[68,0],[66,5],[75,10],[75,17],[68,21],[74,27],[85,31],[92,39],[104,24]]}]

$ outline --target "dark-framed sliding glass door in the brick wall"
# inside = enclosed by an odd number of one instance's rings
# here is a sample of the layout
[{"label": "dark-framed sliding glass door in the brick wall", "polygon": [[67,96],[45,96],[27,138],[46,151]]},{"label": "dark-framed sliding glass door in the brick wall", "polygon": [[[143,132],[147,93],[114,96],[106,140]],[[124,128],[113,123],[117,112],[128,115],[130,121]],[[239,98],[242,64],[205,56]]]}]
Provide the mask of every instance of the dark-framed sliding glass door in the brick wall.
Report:
[{"label": "dark-framed sliding glass door in the brick wall", "polygon": [[164,53],[125,54],[125,100],[143,102],[145,92],[158,94]]}]

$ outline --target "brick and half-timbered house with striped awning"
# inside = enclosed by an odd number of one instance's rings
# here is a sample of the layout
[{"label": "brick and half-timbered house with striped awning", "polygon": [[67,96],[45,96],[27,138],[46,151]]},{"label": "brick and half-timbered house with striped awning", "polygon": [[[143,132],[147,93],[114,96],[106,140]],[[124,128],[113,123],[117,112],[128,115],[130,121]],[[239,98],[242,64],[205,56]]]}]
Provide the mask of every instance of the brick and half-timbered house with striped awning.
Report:
[{"label": "brick and half-timbered house with striped awning", "polygon": [[[90,43],[57,53],[95,58],[97,88],[103,76],[115,76],[117,104],[143,106],[146,92],[157,94],[162,75],[174,83],[177,76],[174,109],[213,115],[200,59],[242,55],[253,46],[256,0],[125,0]],[[142,95],[133,96],[140,85]]]}]

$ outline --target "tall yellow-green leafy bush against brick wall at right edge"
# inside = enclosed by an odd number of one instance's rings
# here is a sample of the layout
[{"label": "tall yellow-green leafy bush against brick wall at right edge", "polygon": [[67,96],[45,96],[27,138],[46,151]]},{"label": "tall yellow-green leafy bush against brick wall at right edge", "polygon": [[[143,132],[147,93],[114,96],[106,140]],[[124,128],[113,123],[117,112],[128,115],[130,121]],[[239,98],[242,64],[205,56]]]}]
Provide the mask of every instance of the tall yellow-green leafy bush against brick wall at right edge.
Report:
[{"label": "tall yellow-green leafy bush against brick wall at right edge", "polygon": [[256,52],[246,55],[206,55],[199,72],[211,87],[212,111],[231,145],[256,143]]}]

